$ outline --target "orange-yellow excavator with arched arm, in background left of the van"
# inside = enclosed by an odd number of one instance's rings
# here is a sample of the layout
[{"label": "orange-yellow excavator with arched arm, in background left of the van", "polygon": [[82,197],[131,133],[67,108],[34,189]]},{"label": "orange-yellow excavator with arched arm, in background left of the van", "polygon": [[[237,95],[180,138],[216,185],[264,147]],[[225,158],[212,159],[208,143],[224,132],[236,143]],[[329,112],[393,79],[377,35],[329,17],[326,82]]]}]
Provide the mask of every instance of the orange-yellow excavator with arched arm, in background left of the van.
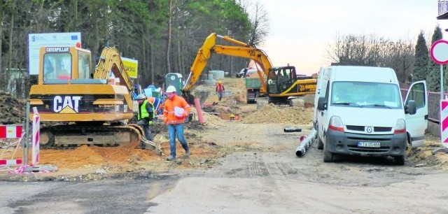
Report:
[{"label": "orange-yellow excavator with arched arm, in background left of the van", "polygon": [[[234,45],[216,45],[216,38],[222,38]],[[212,33],[204,41],[202,47],[197,51],[197,55],[190,69],[190,74],[183,87],[183,93],[188,100],[192,99],[190,90],[200,78],[204,67],[212,54],[231,55],[253,59],[259,66],[258,77],[261,87],[257,96],[267,95],[269,103],[290,104],[288,97],[314,94],[316,92],[317,80],[309,77],[297,77],[294,66],[274,67],[267,57],[267,54],[255,45],[237,41],[229,36],[221,36]],[[249,94],[249,93],[248,93]]]}]

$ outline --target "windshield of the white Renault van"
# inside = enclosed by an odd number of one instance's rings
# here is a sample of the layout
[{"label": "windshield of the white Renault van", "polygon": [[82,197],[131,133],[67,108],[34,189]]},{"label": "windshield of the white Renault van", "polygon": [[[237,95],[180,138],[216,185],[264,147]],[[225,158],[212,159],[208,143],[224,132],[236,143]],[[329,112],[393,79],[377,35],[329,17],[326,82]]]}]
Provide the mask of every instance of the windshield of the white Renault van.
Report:
[{"label": "windshield of the white Renault van", "polygon": [[400,89],[391,83],[334,82],[331,105],[402,108]]}]

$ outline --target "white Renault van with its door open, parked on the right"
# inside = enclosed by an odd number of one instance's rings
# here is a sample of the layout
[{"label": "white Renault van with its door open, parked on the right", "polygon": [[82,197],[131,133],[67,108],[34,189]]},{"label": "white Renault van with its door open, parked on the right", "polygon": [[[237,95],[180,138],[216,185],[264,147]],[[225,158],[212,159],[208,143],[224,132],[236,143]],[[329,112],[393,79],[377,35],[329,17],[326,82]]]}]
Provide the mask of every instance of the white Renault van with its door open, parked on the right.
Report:
[{"label": "white Renault van with its door open, parked on the right", "polygon": [[314,128],[323,161],[337,155],[394,157],[405,164],[408,145],[424,143],[428,126],[426,82],[413,83],[405,102],[393,69],[321,68],[314,100]]}]

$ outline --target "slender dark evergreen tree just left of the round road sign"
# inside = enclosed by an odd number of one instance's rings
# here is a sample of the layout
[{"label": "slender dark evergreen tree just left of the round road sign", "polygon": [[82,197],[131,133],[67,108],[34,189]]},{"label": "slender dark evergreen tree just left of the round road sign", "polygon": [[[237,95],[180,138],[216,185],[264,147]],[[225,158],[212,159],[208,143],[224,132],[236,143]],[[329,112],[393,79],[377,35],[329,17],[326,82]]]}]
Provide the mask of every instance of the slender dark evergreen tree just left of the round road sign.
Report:
[{"label": "slender dark evergreen tree just left of the round road sign", "polygon": [[426,75],[428,72],[428,46],[426,46],[426,40],[423,36],[423,31],[420,32],[419,38],[417,38],[417,43],[415,45],[414,54],[414,71],[412,73],[412,82],[419,80],[426,80]]}]

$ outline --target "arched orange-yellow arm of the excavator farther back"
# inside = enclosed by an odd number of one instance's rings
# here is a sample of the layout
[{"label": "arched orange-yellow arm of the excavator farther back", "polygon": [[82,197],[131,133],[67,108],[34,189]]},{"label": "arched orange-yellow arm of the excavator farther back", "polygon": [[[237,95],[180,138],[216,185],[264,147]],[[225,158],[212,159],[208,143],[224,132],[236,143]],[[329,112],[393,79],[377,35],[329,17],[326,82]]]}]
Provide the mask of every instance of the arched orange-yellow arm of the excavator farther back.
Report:
[{"label": "arched orange-yellow arm of the excavator farther back", "polygon": [[[216,37],[222,38],[224,41],[233,43],[235,44],[235,46],[216,45]],[[190,74],[186,80],[185,85],[183,86],[183,92],[188,93],[193,85],[195,85],[197,80],[199,80],[205,66],[207,65],[207,62],[209,61],[213,53],[253,59],[253,61],[257,62],[261,66],[263,73],[260,73],[260,71],[258,71],[258,76],[260,77],[263,90],[266,91],[265,76],[267,76],[267,74],[269,73],[269,69],[272,68],[272,63],[269,57],[267,57],[266,53],[258,48],[255,48],[254,45],[249,45],[247,43],[237,41],[228,36],[220,36],[216,33],[212,33],[207,36],[204,44],[197,51],[195,61],[193,62],[193,65],[190,69]]]}]

